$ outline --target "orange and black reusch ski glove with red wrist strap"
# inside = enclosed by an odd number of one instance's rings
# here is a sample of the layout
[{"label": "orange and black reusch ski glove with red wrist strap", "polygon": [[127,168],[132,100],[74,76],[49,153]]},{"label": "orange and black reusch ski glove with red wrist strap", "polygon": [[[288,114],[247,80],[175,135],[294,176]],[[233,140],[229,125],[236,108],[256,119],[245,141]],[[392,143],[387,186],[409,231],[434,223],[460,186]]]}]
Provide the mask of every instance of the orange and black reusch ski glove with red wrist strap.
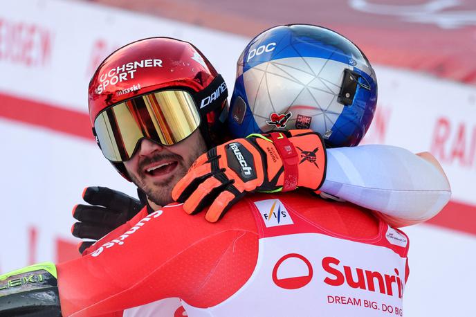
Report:
[{"label": "orange and black reusch ski glove with red wrist strap", "polygon": [[290,130],[253,134],[212,148],[178,181],[172,198],[189,214],[211,205],[205,219],[214,222],[246,192],[318,190],[326,170],[320,134]]}]

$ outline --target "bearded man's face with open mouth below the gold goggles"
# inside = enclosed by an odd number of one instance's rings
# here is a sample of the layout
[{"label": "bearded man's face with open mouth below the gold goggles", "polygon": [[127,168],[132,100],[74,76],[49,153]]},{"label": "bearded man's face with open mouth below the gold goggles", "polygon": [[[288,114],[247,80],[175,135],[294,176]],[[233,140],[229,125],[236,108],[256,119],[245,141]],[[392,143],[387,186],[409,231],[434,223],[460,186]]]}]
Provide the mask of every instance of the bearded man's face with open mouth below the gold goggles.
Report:
[{"label": "bearded man's face with open mouth below the gold goggles", "polygon": [[185,140],[170,146],[144,139],[129,161],[125,161],[131,180],[158,206],[172,203],[172,189],[185,176],[192,163],[207,150],[197,129]]}]

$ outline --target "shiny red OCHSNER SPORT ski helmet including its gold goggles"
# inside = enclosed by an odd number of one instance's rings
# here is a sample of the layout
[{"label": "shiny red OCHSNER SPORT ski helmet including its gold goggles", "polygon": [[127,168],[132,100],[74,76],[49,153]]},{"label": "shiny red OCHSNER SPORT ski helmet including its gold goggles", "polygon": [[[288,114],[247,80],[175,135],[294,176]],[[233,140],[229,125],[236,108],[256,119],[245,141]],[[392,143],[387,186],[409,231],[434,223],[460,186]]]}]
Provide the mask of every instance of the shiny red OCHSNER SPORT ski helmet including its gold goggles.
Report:
[{"label": "shiny red OCHSNER SPORT ski helmet including its gold goggles", "polygon": [[143,138],[173,145],[200,129],[208,146],[221,143],[227,96],[223,78],[198,48],[152,37],[100,64],[89,82],[89,116],[102,154],[130,181],[122,162]]}]

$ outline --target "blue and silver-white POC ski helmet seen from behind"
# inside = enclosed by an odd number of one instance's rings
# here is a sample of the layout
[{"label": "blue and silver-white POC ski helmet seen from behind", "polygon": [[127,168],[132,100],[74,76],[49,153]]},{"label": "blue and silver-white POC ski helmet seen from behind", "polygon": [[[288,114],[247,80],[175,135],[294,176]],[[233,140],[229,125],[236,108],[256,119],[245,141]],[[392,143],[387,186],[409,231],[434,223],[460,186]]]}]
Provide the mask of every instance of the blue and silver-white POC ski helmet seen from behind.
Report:
[{"label": "blue and silver-white POC ski helmet seen from behind", "polygon": [[354,146],[376,102],[374,69],[349,39],[320,26],[275,26],[239,57],[228,124],[236,138],[312,129],[330,147]]}]

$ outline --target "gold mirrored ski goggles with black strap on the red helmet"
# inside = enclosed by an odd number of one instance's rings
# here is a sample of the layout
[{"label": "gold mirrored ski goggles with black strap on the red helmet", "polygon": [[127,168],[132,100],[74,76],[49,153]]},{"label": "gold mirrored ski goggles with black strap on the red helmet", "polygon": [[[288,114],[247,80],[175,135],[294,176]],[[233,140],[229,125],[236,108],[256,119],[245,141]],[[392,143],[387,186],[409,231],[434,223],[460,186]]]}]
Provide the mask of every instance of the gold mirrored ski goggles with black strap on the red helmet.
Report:
[{"label": "gold mirrored ski goggles with black strap on the red helmet", "polygon": [[95,118],[93,133],[109,161],[127,161],[142,138],[163,145],[183,141],[200,126],[199,111],[212,111],[227,96],[221,75],[193,96],[179,89],[148,93],[104,109]]}]

